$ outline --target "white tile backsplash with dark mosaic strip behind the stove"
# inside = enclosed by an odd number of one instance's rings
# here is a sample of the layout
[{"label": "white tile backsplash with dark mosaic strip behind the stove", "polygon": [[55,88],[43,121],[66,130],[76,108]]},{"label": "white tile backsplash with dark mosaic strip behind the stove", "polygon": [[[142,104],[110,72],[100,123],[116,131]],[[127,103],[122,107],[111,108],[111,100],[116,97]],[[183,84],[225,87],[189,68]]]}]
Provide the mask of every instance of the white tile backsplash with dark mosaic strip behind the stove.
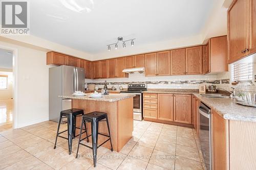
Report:
[{"label": "white tile backsplash with dark mosaic strip behind the stove", "polygon": [[229,86],[229,72],[224,72],[217,75],[182,75],[182,76],[154,76],[145,77],[144,74],[130,74],[129,78],[116,79],[95,79],[86,80],[87,84],[96,84],[99,88],[104,86],[104,81],[108,83],[108,88],[121,85],[127,88],[127,84],[131,83],[146,83],[147,88],[167,88],[167,89],[198,89],[199,85],[211,84]]}]

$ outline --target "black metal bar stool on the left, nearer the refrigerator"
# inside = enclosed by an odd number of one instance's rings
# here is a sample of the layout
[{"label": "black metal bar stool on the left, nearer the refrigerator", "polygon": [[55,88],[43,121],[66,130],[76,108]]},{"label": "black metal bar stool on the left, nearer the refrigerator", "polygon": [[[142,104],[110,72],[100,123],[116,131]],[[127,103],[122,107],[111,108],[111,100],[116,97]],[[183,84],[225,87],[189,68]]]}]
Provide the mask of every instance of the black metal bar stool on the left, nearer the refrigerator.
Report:
[{"label": "black metal bar stool on the left, nearer the refrigerator", "polygon": [[[83,116],[83,115],[84,114],[83,114],[82,109],[68,109],[68,110],[63,110],[63,111],[60,112],[59,122],[58,122],[58,130],[57,130],[54,149],[56,149],[57,138],[62,137],[64,139],[68,140],[68,142],[69,142],[69,154],[71,154],[72,139],[78,136],[78,135],[76,135],[76,129],[80,129],[80,128],[76,127],[76,117]],[[61,119],[64,118],[64,117],[67,117],[67,119],[68,119],[68,122],[67,122],[68,123],[68,129],[65,130],[65,131],[59,132]],[[82,132],[82,133],[86,133],[86,136],[88,136],[87,129],[86,129],[86,123],[84,123],[84,129],[81,129],[81,130],[84,130],[84,132]],[[59,135],[59,134],[61,134],[63,132],[66,132],[66,131],[68,131],[68,138]],[[89,142],[88,138],[87,138],[87,141]]]}]

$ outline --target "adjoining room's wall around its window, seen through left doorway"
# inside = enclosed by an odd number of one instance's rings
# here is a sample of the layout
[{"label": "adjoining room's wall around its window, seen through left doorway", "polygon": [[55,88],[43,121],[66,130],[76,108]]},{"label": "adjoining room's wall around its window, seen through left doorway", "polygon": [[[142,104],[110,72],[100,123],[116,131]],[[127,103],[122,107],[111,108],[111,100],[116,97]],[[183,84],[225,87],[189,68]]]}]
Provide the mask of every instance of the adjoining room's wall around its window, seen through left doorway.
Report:
[{"label": "adjoining room's wall around its window, seen through left doorway", "polygon": [[12,99],[12,70],[2,71],[5,69],[0,68],[0,75],[8,76],[8,89],[0,89],[0,99]]}]

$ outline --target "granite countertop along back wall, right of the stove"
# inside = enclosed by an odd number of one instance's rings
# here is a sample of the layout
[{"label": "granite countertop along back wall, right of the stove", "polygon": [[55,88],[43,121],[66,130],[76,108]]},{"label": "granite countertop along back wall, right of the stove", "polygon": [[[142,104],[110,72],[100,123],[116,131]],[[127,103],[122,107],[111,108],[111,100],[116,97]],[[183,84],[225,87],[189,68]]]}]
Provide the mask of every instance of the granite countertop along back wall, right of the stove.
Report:
[{"label": "granite countertop along back wall, right of the stove", "polygon": [[197,93],[198,89],[147,89],[143,93],[167,93],[167,94],[192,94]]}]

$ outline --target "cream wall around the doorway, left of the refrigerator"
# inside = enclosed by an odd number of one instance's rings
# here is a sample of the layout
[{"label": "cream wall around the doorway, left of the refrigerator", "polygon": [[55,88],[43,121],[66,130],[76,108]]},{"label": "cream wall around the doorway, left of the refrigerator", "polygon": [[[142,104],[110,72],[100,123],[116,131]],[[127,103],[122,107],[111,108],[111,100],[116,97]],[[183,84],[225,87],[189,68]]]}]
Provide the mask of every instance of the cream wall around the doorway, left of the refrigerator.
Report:
[{"label": "cream wall around the doorway, left of the refrigerator", "polygon": [[17,48],[18,51],[18,74],[14,75],[18,76],[16,128],[48,120],[46,52],[3,41],[0,41],[0,46]]}]

